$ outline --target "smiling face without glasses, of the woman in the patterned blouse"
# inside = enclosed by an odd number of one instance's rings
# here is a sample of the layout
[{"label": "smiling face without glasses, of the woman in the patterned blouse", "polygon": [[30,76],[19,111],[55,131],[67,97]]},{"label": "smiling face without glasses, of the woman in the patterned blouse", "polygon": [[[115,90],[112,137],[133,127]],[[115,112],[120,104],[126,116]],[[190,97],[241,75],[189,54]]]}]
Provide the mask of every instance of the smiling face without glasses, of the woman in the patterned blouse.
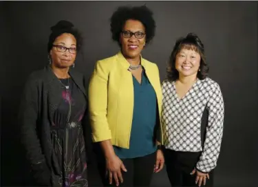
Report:
[{"label": "smiling face without glasses, of the woman in the patterned blouse", "polygon": [[193,48],[182,48],[175,57],[175,69],[180,77],[197,77],[200,62],[201,56]]}]

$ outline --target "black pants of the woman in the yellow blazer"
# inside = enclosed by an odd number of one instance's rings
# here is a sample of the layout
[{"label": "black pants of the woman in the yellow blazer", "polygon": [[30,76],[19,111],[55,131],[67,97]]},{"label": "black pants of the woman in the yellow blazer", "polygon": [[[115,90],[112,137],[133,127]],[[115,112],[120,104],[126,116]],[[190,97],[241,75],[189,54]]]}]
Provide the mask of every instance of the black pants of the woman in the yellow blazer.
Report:
[{"label": "black pants of the woman in the yellow blazer", "polygon": [[[98,171],[103,181],[103,186],[116,186],[114,179],[113,183],[109,184],[109,176],[106,175],[106,163],[103,153],[96,152],[98,159]],[[151,177],[153,175],[154,164],[156,160],[156,152],[144,157],[133,159],[121,159],[127,172],[122,171],[123,183],[119,186],[150,186]]]}]

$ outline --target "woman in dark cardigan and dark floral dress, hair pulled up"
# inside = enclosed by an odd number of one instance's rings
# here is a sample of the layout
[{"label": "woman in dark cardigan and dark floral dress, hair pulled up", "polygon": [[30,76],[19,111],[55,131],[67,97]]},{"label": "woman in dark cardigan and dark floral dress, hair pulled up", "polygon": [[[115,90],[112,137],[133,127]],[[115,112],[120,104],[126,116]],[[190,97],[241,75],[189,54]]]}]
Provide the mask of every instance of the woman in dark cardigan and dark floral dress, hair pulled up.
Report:
[{"label": "woman in dark cardigan and dark floral dress, hair pulled up", "polygon": [[51,28],[50,65],[30,75],[21,99],[21,141],[35,186],[88,186],[85,79],[72,70],[81,37],[69,21]]}]

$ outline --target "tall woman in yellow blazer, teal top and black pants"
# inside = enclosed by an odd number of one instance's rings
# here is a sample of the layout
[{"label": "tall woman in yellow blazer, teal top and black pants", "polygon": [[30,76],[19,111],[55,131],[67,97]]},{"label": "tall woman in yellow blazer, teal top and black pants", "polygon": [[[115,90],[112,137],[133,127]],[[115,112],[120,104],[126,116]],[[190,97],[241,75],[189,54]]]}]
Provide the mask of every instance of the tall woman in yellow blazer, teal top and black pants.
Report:
[{"label": "tall woman in yellow blazer, teal top and black pants", "polygon": [[149,186],[152,173],[164,166],[159,70],[140,55],[155,35],[151,10],[118,8],[111,32],[120,52],[97,61],[89,83],[92,136],[101,150],[98,167],[104,186]]}]

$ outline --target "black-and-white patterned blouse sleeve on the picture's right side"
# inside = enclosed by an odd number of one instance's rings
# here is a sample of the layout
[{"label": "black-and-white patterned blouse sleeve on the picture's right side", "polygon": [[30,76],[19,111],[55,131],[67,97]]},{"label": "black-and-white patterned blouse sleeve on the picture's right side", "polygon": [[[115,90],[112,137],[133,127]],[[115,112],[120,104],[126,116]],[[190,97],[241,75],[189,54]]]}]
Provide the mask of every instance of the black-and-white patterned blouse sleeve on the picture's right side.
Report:
[{"label": "black-and-white patterned blouse sleeve on the picture's right side", "polygon": [[224,101],[219,85],[215,83],[207,103],[208,126],[204,150],[197,162],[196,168],[202,173],[209,173],[217,165],[220,147],[222,144],[224,123]]}]

